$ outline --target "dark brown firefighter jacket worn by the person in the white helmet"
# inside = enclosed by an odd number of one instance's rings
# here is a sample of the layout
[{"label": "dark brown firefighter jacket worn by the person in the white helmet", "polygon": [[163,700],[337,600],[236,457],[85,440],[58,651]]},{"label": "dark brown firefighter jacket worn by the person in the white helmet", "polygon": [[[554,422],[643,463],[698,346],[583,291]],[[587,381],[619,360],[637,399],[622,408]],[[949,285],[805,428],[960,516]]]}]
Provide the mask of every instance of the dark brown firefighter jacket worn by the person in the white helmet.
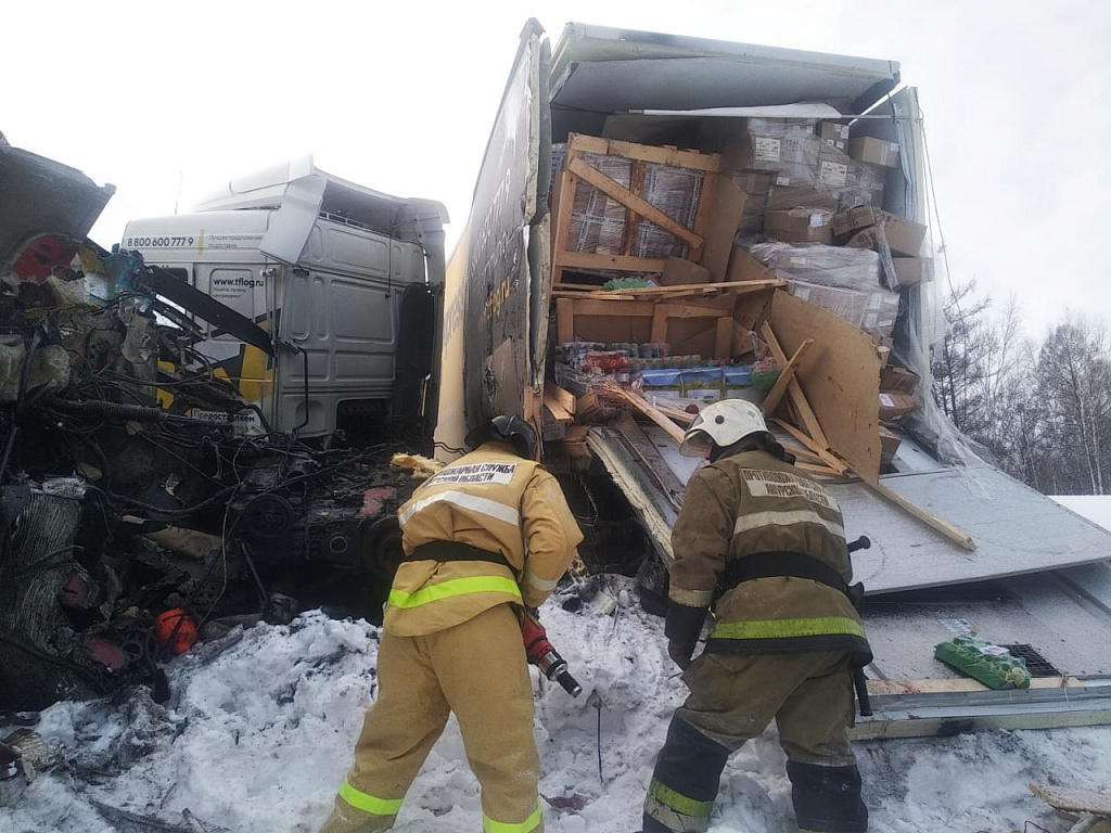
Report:
[{"label": "dark brown firefighter jacket worn by the person in the white helmet", "polygon": [[[671,536],[668,636],[693,643],[725,565],[750,553],[810,556],[852,581],[841,509],[820,483],[764,451],[742,451],[697,471]],[[870,659],[860,614],[839,590],[810,579],[744,581],[715,603],[708,651],[844,650]]]}]

